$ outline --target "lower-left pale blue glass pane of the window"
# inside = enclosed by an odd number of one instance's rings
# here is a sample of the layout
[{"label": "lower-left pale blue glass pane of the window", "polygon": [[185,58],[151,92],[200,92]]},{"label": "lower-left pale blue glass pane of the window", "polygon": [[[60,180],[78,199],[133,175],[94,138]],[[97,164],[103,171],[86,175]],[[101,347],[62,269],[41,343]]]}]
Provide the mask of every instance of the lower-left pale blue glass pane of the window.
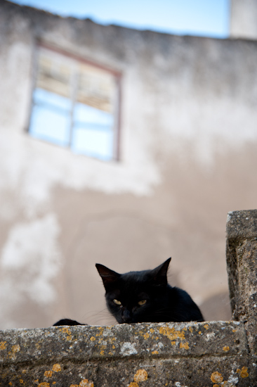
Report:
[{"label": "lower-left pale blue glass pane of the window", "polygon": [[34,106],[30,120],[29,134],[37,139],[67,146],[70,140],[70,115]]}]

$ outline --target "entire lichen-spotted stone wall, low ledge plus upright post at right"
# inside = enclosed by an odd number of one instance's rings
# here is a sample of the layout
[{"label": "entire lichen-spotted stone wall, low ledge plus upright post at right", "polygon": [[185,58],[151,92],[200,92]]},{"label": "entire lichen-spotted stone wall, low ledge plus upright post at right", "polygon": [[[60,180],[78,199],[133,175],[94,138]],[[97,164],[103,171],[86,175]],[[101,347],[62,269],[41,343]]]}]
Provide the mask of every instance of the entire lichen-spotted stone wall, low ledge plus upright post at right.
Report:
[{"label": "entire lichen-spotted stone wall, low ledge plus upright post at right", "polygon": [[0,333],[0,386],[257,386],[257,210],[228,215],[239,321],[60,326]]}]

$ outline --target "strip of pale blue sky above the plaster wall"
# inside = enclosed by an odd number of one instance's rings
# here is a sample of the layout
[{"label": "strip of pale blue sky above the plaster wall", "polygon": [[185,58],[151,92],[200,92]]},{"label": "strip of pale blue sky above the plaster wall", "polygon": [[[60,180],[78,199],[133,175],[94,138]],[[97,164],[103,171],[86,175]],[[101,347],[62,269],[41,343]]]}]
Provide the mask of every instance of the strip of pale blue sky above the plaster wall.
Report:
[{"label": "strip of pale blue sky above the plaster wall", "polygon": [[62,16],[140,30],[228,37],[230,0],[16,0]]}]

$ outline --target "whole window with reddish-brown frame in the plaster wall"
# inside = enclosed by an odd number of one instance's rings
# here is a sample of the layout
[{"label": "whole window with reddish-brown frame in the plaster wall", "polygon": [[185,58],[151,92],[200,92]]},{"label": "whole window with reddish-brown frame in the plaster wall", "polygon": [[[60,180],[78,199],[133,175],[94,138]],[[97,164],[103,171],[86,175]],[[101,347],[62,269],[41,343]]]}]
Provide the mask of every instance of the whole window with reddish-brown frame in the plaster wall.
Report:
[{"label": "whole window with reddish-brown frame in the plaster wall", "polygon": [[39,47],[29,134],[100,160],[119,159],[120,74]]}]

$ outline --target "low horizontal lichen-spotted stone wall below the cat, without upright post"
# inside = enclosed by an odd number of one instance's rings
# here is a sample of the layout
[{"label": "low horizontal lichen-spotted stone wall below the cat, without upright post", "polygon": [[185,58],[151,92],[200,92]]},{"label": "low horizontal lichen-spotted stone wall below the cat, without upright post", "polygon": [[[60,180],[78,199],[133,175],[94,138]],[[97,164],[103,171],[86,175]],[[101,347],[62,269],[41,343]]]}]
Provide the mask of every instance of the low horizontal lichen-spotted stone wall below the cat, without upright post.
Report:
[{"label": "low horizontal lichen-spotted stone wall below the cat, without upright post", "polygon": [[0,386],[208,386],[215,372],[249,386],[253,377],[242,322],[15,329],[0,332],[0,345]]}]

